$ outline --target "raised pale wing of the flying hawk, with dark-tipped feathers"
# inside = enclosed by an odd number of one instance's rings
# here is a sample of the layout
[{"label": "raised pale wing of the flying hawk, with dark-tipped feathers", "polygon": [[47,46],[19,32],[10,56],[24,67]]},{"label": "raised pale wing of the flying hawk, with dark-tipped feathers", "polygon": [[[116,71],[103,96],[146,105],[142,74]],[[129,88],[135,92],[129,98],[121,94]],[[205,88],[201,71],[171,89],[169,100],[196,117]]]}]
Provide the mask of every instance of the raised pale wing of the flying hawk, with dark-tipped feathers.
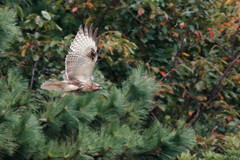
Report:
[{"label": "raised pale wing of the flying hawk, with dark-tipped feathers", "polygon": [[89,81],[97,61],[97,31],[92,25],[79,28],[65,59],[64,80]]}]

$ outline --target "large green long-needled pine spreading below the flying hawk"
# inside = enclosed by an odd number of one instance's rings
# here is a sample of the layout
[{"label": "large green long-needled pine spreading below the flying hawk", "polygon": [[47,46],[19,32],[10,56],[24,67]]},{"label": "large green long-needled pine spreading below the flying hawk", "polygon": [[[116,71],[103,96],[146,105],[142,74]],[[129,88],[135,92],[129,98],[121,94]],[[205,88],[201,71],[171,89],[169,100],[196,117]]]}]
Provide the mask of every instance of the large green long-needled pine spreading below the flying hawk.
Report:
[{"label": "large green long-needled pine spreading below the flying hawk", "polygon": [[[18,70],[0,80],[2,159],[174,159],[194,132],[170,128],[149,112],[156,84],[142,67],[117,88],[68,94],[31,93]],[[34,95],[34,96],[33,96]]]}]

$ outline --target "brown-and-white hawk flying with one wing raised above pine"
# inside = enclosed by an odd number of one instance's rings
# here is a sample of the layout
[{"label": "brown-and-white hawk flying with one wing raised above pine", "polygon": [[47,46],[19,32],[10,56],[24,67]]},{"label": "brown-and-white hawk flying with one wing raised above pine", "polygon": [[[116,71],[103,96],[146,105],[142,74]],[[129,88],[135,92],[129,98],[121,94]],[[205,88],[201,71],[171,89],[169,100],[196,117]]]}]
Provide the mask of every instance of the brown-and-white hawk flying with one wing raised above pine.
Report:
[{"label": "brown-and-white hawk flying with one wing raised above pine", "polygon": [[47,81],[42,89],[64,92],[91,92],[103,89],[93,82],[92,72],[98,58],[97,31],[92,24],[88,28],[79,27],[79,31],[70,45],[70,51],[65,58],[65,73],[63,81]]}]

